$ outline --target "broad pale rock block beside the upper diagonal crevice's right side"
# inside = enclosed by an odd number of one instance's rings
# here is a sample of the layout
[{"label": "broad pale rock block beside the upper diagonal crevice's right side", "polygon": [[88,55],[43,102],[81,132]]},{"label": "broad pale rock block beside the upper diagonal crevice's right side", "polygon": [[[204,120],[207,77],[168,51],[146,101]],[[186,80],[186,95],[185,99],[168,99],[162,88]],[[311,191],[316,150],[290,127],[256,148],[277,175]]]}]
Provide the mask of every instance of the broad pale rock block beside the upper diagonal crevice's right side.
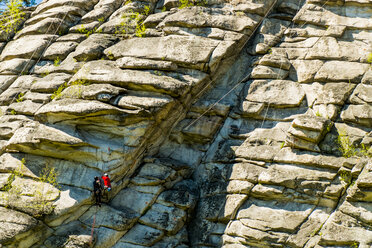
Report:
[{"label": "broad pale rock block beside the upper diagonal crevice's right side", "polygon": [[299,106],[305,97],[301,86],[289,80],[255,80],[251,83],[246,100],[270,104],[272,107]]}]

